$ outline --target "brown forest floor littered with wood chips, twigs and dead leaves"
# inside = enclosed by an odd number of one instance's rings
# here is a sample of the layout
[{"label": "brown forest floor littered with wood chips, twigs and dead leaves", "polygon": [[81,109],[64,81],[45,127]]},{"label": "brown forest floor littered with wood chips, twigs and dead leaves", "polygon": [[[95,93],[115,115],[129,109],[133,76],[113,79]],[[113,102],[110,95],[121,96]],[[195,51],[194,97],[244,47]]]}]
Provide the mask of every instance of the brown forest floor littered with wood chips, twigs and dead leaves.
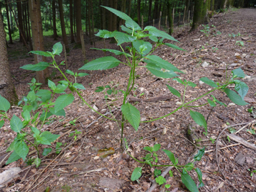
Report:
[{"label": "brown forest floor littered with wood chips, twigs and dead leaves", "polygon": [[[256,191],[256,173],[251,174],[252,170],[256,170],[256,151],[248,146],[239,144],[230,138],[227,139],[226,134],[230,131],[238,131],[244,125],[236,136],[256,143],[253,129],[256,129],[255,116],[247,112],[247,108],[254,106],[256,113],[256,9],[237,9],[226,13],[214,15],[210,21],[210,33],[206,36],[200,30],[189,33],[189,26],[175,28],[174,38],[181,42],[178,44],[184,51],[177,51],[169,47],[162,46],[156,49],[154,55],[168,60],[170,63],[181,69],[184,74],[180,74],[183,79],[191,81],[197,86],[195,88],[187,88],[185,99],[193,100],[201,96],[208,90],[210,86],[201,84],[201,77],[208,77],[214,82],[225,82],[226,74],[229,76],[233,69],[241,67],[247,77],[243,81],[249,86],[249,92],[245,97],[245,101],[249,104],[245,106],[234,105],[223,92],[214,92],[213,95],[224,102],[227,106],[218,105],[208,120],[208,135],[203,135],[203,128],[197,127],[197,137],[202,141],[198,142],[199,148],[205,146],[205,155],[196,166],[203,172],[204,187],[199,191]],[[212,26],[214,25],[214,26]],[[221,33],[221,34],[220,34]],[[240,34],[240,35],[239,35]],[[59,41],[61,38],[59,38]],[[45,48],[51,51],[51,47],[57,41],[46,37]],[[244,46],[239,46],[237,41],[243,41]],[[108,43],[106,40],[106,48],[118,49],[115,44]],[[169,41],[166,41],[169,42]],[[29,91],[29,83],[35,73],[28,73],[20,69],[23,65],[33,63],[32,57],[19,56],[26,53],[26,49],[19,42],[9,45],[8,49],[9,63],[11,73],[15,77],[16,92],[19,99],[26,96]],[[91,61],[104,56],[102,51],[90,50],[91,45],[86,46],[87,59]],[[103,48],[103,41],[96,42],[96,48]],[[108,53],[107,53],[108,55]],[[64,60],[63,54],[57,57],[57,62]],[[118,57],[118,59],[124,59]],[[68,67],[72,71],[77,71],[79,67],[84,65],[81,49],[71,47],[70,53],[67,55]],[[209,65],[202,67],[202,63],[206,61]],[[50,62],[50,60],[49,60]],[[63,68],[63,71],[65,69]],[[94,92],[98,86],[110,85],[117,90],[122,90],[127,85],[127,77],[129,68],[125,65],[119,65],[114,69],[106,71],[83,71],[90,75],[77,79],[79,84],[83,84],[86,90],[82,91],[82,96],[92,105],[97,106],[100,113],[107,113],[108,106],[104,100],[102,92]],[[162,115],[170,113],[178,107],[176,104],[179,99],[172,95],[166,84],[176,88],[180,92],[184,89],[181,84],[177,84],[170,79],[162,79],[151,75],[145,67],[138,68],[136,71],[135,89],[131,92],[130,103],[139,109],[141,120],[150,120]],[[51,71],[53,82],[59,82],[59,73]],[[71,76],[67,75],[69,79]],[[47,89],[47,86],[42,86]],[[69,93],[69,91],[67,91]],[[49,187],[50,191],[146,191],[152,184],[152,170],[150,166],[143,166],[142,177],[139,182],[131,181],[131,173],[137,166],[142,166],[130,156],[123,152],[120,148],[120,130],[117,124],[106,119],[98,119],[100,116],[92,113],[88,106],[79,100],[77,95],[72,104],[65,108],[66,117],[53,118],[49,125],[44,125],[43,129],[60,134],[58,142],[66,143],[63,146],[61,154],[51,153],[46,158],[42,158],[42,164],[36,168],[34,165],[26,166],[22,160],[13,162],[7,166],[3,166],[6,160],[1,162],[2,170],[18,166],[22,168],[20,177],[15,180],[15,185],[3,189],[3,191],[11,191],[13,187],[20,191],[45,191]],[[168,100],[156,100],[148,102],[148,98],[157,96],[168,96]],[[139,98],[138,102],[132,101],[132,97]],[[116,96],[110,96],[112,100],[108,100],[110,107],[115,109],[113,115],[117,119],[121,119],[119,107],[122,102],[122,95],[118,93]],[[115,100],[117,98],[118,100]],[[195,104],[203,104],[207,102],[204,97]],[[206,118],[210,113],[209,105],[193,108],[193,110],[202,113]],[[21,110],[18,107],[12,107],[9,116],[13,114],[21,117]],[[75,125],[70,125],[70,121],[75,120]],[[154,123],[145,123],[141,125],[136,132],[130,125],[125,125],[124,137],[129,143],[129,151],[135,158],[142,160],[147,153],[143,150],[146,146],[154,146],[156,143],[161,144],[161,149],[170,150],[174,156],[179,159],[179,164],[185,165],[189,162],[189,158],[197,152],[197,147],[193,142],[187,139],[187,127],[193,120],[189,115],[189,110],[181,109],[165,117],[164,119],[154,121]],[[90,124],[92,123],[92,124]],[[251,124],[250,124],[251,123]],[[226,129],[220,135],[227,125],[232,125],[232,129]],[[82,134],[77,136],[74,141],[73,137],[69,137],[70,131],[81,131]],[[251,130],[248,131],[248,130]],[[0,129],[0,159],[5,156],[5,150],[13,141],[15,134],[5,124]],[[216,157],[216,138],[219,148],[218,157]],[[215,141],[211,139],[215,139]],[[71,144],[71,145],[69,145]],[[53,148],[56,143],[53,143]],[[69,146],[69,147],[67,147]],[[42,146],[43,147],[43,146]],[[113,148],[114,154],[110,154],[106,158],[97,156],[98,150]],[[41,148],[42,150],[42,148]],[[164,152],[158,153],[158,164],[170,163]],[[29,157],[36,156],[30,154]],[[220,162],[220,169],[218,164]],[[165,168],[162,168],[164,170]],[[251,171],[250,171],[251,170]],[[153,170],[154,171],[154,170]],[[166,184],[170,184],[168,191],[188,191],[181,182],[181,174],[177,170],[172,169],[173,177],[166,176]],[[197,174],[190,172],[191,177],[198,185]],[[164,187],[156,187],[155,191],[164,191]],[[1,191],[1,190],[0,190]],[[166,191],[166,190],[165,190]]]}]

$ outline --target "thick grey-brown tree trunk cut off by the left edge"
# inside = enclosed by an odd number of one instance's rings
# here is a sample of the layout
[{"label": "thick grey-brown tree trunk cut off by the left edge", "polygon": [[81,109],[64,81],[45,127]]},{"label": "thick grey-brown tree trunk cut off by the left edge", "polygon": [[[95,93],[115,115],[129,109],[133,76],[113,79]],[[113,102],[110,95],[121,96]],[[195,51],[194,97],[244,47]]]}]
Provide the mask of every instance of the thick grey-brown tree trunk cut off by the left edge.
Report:
[{"label": "thick grey-brown tree trunk cut off by the left edge", "polygon": [[7,47],[5,43],[5,31],[3,28],[3,19],[0,14],[0,95],[6,98],[11,105],[16,104],[18,96],[15,94],[15,88],[11,78],[9,62],[7,56]]}]

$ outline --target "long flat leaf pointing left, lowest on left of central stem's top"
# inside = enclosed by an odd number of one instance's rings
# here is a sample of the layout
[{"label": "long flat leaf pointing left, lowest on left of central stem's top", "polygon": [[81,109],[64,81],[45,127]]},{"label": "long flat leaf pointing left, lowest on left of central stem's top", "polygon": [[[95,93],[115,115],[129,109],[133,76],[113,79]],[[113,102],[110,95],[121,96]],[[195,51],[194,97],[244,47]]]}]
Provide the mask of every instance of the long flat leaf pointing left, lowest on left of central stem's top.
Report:
[{"label": "long flat leaf pointing left, lowest on left of central stem's top", "polygon": [[95,59],[94,61],[90,61],[86,63],[79,70],[103,70],[103,69],[111,69],[113,67],[117,67],[120,61],[115,59],[115,57],[101,57],[99,59]]}]

